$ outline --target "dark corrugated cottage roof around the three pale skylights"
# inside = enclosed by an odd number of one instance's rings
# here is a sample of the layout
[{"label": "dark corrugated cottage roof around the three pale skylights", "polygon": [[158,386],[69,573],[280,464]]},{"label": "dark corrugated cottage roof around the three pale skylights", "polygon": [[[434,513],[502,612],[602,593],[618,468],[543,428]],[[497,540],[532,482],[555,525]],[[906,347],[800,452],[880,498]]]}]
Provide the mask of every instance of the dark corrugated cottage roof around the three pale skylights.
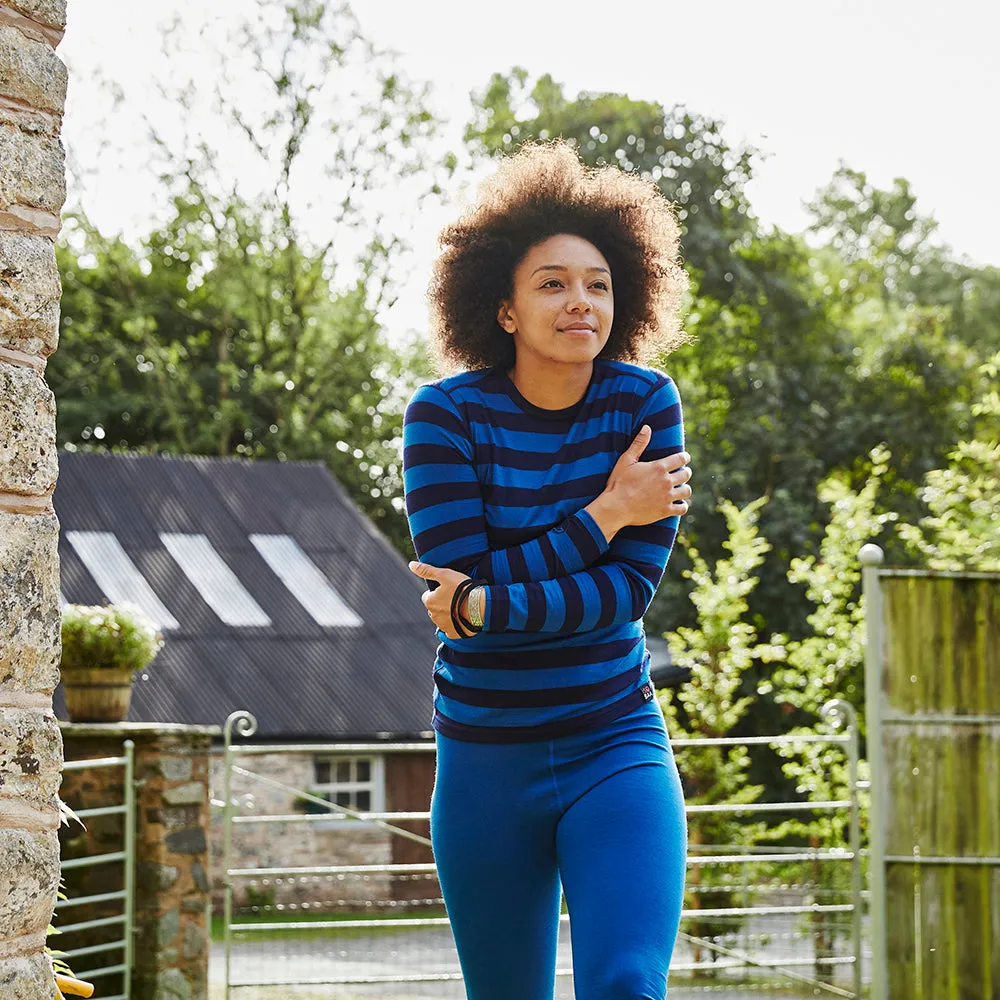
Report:
[{"label": "dark corrugated cottage roof around the three pale skylights", "polygon": [[[322,462],[69,451],[59,460],[65,599],[109,599],[67,532],[111,532],[179,623],[136,678],[130,721],[222,725],[247,709],[255,739],[431,735],[437,642],[424,584]],[[226,624],[161,532],[206,536],[271,624]],[[364,624],[317,624],[251,543],[255,533],[292,536]],[[65,719],[61,685],[54,707]]]}]

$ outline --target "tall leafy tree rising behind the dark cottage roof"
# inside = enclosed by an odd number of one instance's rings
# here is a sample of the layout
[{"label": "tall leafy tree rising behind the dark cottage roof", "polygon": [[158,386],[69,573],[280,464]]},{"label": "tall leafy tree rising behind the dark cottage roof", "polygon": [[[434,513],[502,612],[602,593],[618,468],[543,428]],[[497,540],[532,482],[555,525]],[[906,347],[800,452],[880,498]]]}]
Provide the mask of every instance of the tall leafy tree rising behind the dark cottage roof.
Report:
[{"label": "tall leafy tree rising behind the dark cottage roof", "polygon": [[[377,321],[402,242],[371,208],[388,184],[433,188],[435,123],[346,7],[260,0],[233,41],[242,73],[220,66],[216,121],[243,136],[247,173],[269,180],[245,195],[208,138],[178,146],[151,126],[172,192],[162,225],[133,248],[70,218],[50,368],[59,443],[320,459],[405,551],[401,417],[427,366]],[[174,97],[194,120],[197,88]],[[295,195],[317,162],[321,240]]]}]

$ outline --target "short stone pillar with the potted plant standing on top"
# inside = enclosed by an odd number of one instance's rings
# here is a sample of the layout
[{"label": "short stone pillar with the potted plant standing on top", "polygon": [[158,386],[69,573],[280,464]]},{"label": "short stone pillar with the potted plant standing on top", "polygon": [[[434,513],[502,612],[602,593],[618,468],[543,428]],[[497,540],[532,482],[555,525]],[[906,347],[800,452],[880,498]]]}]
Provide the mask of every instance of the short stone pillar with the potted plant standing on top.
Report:
[{"label": "short stone pillar with the potted plant standing on top", "polygon": [[[209,757],[212,737],[221,736],[221,729],[155,722],[64,722],[60,726],[67,760],[120,756],[125,740],[135,742],[133,1000],[205,1000],[210,946]],[[117,768],[68,771],[62,797],[73,809],[121,802],[121,781],[122,771]],[[63,833],[67,856],[120,849],[112,842],[116,833],[110,831],[109,823],[98,820],[115,821],[121,842],[120,816],[94,817],[86,833],[76,824]],[[89,876],[81,876],[77,891],[77,872],[66,873],[67,895],[121,888],[110,882],[86,885],[83,879]],[[84,914],[83,909],[74,908],[74,921],[106,915],[97,910]],[[116,912],[121,912],[120,907]],[[75,940],[57,943],[67,950],[78,946]],[[102,978],[102,991],[106,982]]]}]

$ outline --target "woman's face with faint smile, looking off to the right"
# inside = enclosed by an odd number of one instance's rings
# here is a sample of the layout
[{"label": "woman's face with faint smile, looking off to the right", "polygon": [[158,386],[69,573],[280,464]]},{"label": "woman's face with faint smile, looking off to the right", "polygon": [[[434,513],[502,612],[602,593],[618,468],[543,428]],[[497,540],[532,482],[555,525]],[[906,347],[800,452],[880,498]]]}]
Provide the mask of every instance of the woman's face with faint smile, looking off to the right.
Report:
[{"label": "woman's face with faint smile, looking off to the right", "polygon": [[615,300],[611,269],[593,243],[561,233],[536,243],[514,269],[497,319],[520,362],[593,361],[608,342]]}]

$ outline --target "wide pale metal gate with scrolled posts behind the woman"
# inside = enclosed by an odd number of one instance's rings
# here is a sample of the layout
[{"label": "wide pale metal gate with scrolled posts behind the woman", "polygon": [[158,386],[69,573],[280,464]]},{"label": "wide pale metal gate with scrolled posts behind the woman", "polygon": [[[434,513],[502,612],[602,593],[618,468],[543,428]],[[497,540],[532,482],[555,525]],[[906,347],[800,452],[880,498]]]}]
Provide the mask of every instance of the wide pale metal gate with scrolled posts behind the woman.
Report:
[{"label": "wide pale metal gate with scrolled posts behind the woman", "polygon": [[[783,745],[796,745],[802,743],[824,743],[830,745],[841,745],[847,755],[848,760],[848,795],[844,799],[824,800],[824,801],[792,801],[792,802],[754,802],[754,803],[720,803],[714,805],[688,805],[686,807],[689,815],[699,813],[719,813],[719,814],[783,814],[789,812],[836,812],[843,811],[848,815],[849,838],[843,849],[808,850],[808,849],[780,849],[772,848],[767,851],[755,851],[739,846],[728,849],[728,853],[691,853],[688,857],[688,866],[706,867],[713,865],[735,865],[735,866],[759,866],[764,863],[775,865],[789,865],[800,862],[822,862],[833,864],[850,865],[850,902],[846,903],[822,903],[812,901],[803,904],[771,903],[759,906],[726,906],[684,909],[681,914],[682,928],[685,920],[705,920],[706,918],[725,918],[738,920],[742,918],[761,917],[794,917],[799,915],[816,916],[819,914],[843,914],[850,920],[849,939],[851,941],[852,954],[842,956],[812,956],[812,957],[781,957],[780,959],[756,958],[750,953],[747,947],[735,948],[721,945],[718,941],[709,940],[688,934],[683,930],[679,934],[679,941],[685,941],[691,945],[697,945],[703,950],[708,950],[713,955],[720,956],[721,960],[712,962],[683,962],[675,961],[671,965],[671,973],[674,972],[702,972],[711,971],[718,973],[731,969],[766,969],[779,976],[782,981],[789,984],[801,982],[809,987],[810,995],[831,995],[849,998],[861,996],[862,988],[862,968],[861,968],[861,946],[862,946],[862,852],[861,852],[861,828],[860,828],[860,808],[858,791],[861,787],[858,780],[858,726],[854,708],[843,701],[830,702],[823,708],[823,716],[828,721],[843,729],[843,732],[831,734],[812,734],[796,736],[759,736],[759,737],[732,737],[719,739],[678,739],[671,740],[674,748],[684,747],[733,747],[747,745],[767,745],[771,747]],[[233,730],[242,737],[250,737],[256,732],[256,719],[249,712],[234,712],[226,720],[224,728],[224,771],[223,771],[223,799],[217,802],[223,812],[223,859],[222,875],[224,883],[223,896],[223,954],[225,960],[224,974],[224,997],[229,997],[232,987],[249,987],[261,985],[250,982],[232,982],[232,946],[234,934],[248,934],[262,932],[316,932],[316,931],[348,931],[370,929],[376,931],[386,928],[441,928],[449,926],[447,916],[441,917],[388,917],[378,919],[347,919],[347,920],[281,920],[281,921],[261,921],[261,922],[233,922],[233,884],[237,879],[263,880],[267,885],[267,880],[276,880],[281,883],[283,880],[295,879],[344,879],[347,876],[357,876],[359,878],[374,878],[378,876],[403,877],[403,878],[428,878],[433,879],[436,872],[434,864],[381,864],[381,865],[299,865],[288,867],[234,867],[233,866],[233,827],[241,824],[268,824],[268,823],[313,823],[318,820],[329,819],[330,814],[346,816],[357,820],[366,821],[369,824],[378,826],[395,836],[406,837],[418,843],[430,846],[430,840],[393,825],[395,822],[403,820],[427,820],[429,812],[360,812],[348,806],[336,805],[324,798],[313,795],[302,789],[294,788],[288,784],[278,781],[268,775],[260,774],[249,768],[242,767],[235,763],[237,756],[245,757],[256,754],[335,754],[360,752],[370,752],[372,754],[384,754],[392,752],[434,752],[434,745],[429,743],[411,744],[252,744],[232,742]],[[317,814],[281,814],[281,815],[238,815],[238,804],[232,794],[232,776],[240,775],[250,781],[260,783],[272,789],[286,792],[290,796],[304,799],[308,802],[327,810],[325,815]],[[693,846],[693,845],[691,845]],[[700,850],[711,851],[710,845],[698,845]],[[717,887],[716,887],[717,888]],[[742,886],[743,890],[751,887],[746,881]],[[764,889],[768,886],[762,887]],[[746,892],[744,892],[744,900]],[[440,900],[439,900],[440,901]],[[435,902],[435,900],[425,900],[424,902]],[[443,901],[440,901],[443,902]],[[370,905],[370,904],[369,904]],[[395,905],[393,903],[392,905]],[[276,907],[275,909],[280,909]],[[293,905],[289,909],[296,909]],[[303,907],[304,909],[304,907]],[[324,914],[325,915],[325,914]],[[561,914],[560,922],[565,926],[569,921],[568,914]],[[675,955],[675,958],[677,956]],[[851,966],[852,989],[844,989],[839,986],[811,978],[801,972],[794,971],[803,966],[829,967]],[[556,970],[557,976],[571,976],[572,969],[560,967]],[[375,983],[417,983],[417,982],[446,982],[449,980],[460,981],[461,973],[454,972],[410,972],[405,975],[397,975],[386,972],[385,974],[363,975],[343,978],[320,978],[308,975],[287,975],[281,978],[268,978],[267,985],[291,986],[291,985],[347,985],[347,984],[375,984]]]}]

